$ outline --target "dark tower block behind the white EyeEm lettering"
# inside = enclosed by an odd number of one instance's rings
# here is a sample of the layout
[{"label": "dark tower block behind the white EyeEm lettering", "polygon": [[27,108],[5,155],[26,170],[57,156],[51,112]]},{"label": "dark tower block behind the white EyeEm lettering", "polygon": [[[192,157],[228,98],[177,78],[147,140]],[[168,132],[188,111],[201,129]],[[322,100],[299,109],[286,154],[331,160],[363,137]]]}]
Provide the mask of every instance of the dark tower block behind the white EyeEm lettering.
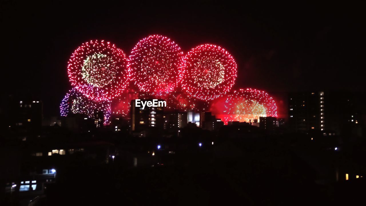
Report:
[{"label": "dark tower block behind the white EyeEm lettering", "polygon": [[[157,129],[164,128],[164,107],[136,107],[135,101],[136,100],[131,101],[131,131],[140,132],[149,129],[150,127],[155,127]],[[152,101],[152,99],[146,99],[146,101]]]}]

